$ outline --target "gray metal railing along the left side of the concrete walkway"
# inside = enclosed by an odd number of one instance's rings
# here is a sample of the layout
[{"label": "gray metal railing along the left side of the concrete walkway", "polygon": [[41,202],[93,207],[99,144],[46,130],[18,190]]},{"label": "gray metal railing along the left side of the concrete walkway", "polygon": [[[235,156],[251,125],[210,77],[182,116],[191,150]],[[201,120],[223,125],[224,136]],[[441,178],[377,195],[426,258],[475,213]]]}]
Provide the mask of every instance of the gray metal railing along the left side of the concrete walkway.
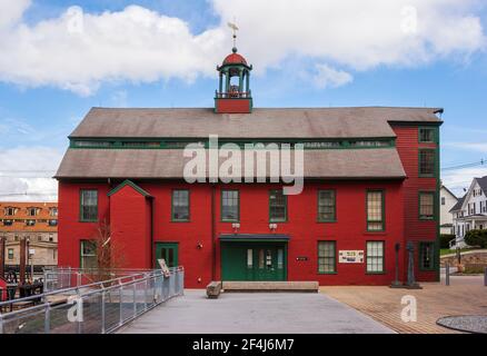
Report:
[{"label": "gray metal railing along the left side of the concrete walkway", "polygon": [[123,274],[0,303],[0,310],[12,304],[32,304],[0,314],[0,334],[108,334],[183,294],[182,267],[170,268],[166,275],[162,270]]}]

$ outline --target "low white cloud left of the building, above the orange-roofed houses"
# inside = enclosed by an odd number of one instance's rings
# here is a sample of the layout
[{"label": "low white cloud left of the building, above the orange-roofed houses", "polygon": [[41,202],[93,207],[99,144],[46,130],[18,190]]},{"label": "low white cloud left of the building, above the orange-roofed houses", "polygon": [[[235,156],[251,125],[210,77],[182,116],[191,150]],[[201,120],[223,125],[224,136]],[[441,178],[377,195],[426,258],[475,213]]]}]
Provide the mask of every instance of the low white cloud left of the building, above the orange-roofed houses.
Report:
[{"label": "low white cloud left of the building, above the orange-roofed houses", "polygon": [[54,175],[62,155],[47,147],[0,149],[0,200],[56,201]]}]

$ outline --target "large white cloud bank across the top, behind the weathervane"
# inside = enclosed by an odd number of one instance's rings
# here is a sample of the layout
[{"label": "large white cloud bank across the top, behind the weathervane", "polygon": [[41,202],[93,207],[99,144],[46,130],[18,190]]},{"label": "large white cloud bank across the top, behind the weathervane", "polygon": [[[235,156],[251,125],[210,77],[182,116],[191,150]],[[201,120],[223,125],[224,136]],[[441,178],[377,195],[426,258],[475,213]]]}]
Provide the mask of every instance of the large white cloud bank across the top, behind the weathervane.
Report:
[{"label": "large white cloud bank across the top, behind the weathervane", "polygon": [[[241,29],[238,47],[260,73],[295,55],[347,71],[418,66],[447,56],[465,58],[485,47],[477,2],[213,0],[221,23],[195,34],[181,19],[138,6],[99,14],[69,8],[30,26],[21,21],[29,1],[0,0],[0,80],[80,95],[103,81],[191,82],[215,76],[231,46],[226,23],[233,17]],[[347,80],[345,75],[339,80]]]}]

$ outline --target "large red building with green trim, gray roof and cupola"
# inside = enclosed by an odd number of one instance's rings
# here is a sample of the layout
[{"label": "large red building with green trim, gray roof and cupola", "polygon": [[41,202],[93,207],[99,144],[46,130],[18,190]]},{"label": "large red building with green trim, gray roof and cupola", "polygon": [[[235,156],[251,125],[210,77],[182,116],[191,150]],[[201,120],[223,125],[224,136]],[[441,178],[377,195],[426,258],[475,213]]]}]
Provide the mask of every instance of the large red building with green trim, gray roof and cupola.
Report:
[{"label": "large red building with green trim, gray roof and cupola", "polygon": [[[436,108],[254,109],[245,58],[219,71],[215,108],[91,109],[70,135],[59,180],[59,265],[96,264],[103,221],[123,267],[182,265],[210,280],[387,285],[437,280],[439,126]],[[186,145],[304,145],[304,190],[282,182],[183,179]],[[117,247],[117,249],[115,249]]]}]

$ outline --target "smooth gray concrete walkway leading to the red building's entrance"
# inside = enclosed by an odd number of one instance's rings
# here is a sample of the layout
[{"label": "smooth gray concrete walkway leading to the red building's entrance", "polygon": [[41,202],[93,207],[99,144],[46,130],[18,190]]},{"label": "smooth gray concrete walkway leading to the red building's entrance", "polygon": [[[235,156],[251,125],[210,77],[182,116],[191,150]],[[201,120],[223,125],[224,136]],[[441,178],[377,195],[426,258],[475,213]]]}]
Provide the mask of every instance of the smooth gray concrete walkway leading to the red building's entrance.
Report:
[{"label": "smooth gray concrete walkway leading to the red building's entrance", "polygon": [[394,333],[324,294],[228,293],[207,299],[190,289],[132,322],[120,333],[318,334]]}]

